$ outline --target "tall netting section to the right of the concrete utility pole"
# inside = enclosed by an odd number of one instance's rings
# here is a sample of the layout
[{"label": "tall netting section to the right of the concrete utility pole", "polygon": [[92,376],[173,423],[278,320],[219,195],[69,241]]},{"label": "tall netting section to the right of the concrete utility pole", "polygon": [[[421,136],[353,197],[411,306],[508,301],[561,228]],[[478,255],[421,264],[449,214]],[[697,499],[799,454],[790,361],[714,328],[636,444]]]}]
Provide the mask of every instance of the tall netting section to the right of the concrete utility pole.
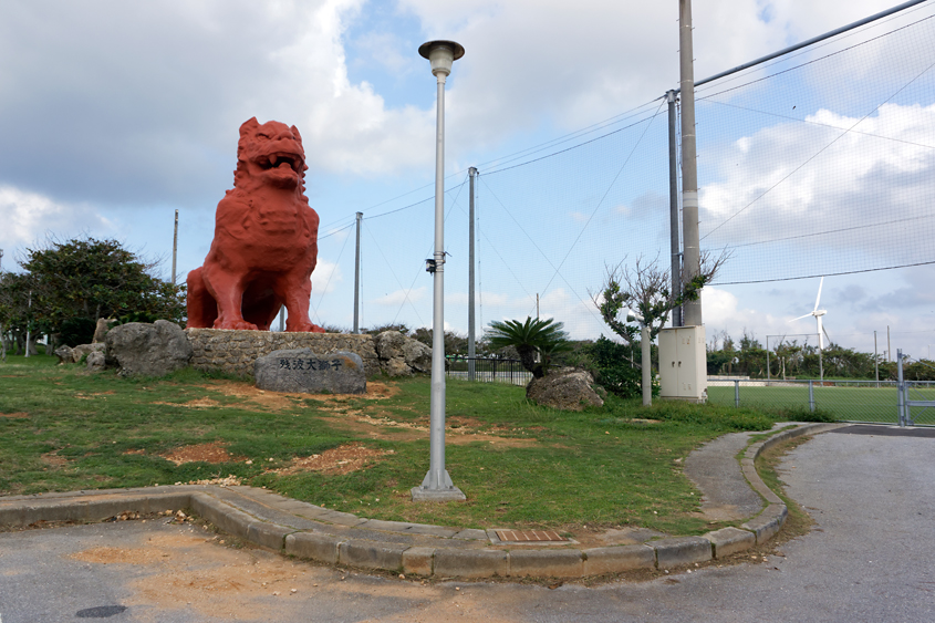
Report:
[{"label": "tall netting section to the right of the concrete utility pole", "polygon": [[929,3],[696,90],[715,283],[935,261]]}]

